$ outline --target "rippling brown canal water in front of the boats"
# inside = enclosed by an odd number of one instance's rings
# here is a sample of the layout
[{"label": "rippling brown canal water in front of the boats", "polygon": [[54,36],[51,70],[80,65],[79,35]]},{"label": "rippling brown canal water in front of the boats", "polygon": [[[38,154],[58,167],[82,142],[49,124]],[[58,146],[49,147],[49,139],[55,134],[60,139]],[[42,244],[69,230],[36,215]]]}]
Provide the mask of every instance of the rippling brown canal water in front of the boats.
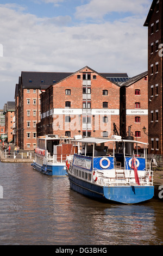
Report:
[{"label": "rippling brown canal water in front of the boats", "polygon": [[0,245],[163,245],[163,203],[101,203],[28,163],[1,163]]}]

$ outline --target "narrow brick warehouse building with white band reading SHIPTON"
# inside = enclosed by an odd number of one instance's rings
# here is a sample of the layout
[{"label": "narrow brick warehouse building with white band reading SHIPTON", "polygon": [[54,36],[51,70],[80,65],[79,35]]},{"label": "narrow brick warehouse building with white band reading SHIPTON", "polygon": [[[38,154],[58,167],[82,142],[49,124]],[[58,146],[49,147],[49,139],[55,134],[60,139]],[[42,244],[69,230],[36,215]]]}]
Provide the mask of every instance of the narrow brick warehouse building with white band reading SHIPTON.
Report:
[{"label": "narrow brick warehouse building with white band reading SHIPTON", "polygon": [[[120,127],[124,138],[131,126],[134,139],[148,143],[148,72],[143,72],[120,88]],[[146,133],[143,132],[146,127]]]}]

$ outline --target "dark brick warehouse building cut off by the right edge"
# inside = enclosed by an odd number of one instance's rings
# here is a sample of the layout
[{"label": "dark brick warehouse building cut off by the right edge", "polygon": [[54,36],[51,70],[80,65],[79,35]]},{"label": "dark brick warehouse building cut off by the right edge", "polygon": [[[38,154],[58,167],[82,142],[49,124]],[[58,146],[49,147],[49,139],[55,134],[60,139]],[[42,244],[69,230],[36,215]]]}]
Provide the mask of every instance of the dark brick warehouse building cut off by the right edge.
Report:
[{"label": "dark brick warehouse building cut off by the right edge", "polygon": [[162,0],[154,0],[144,26],[148,27],[148,133],[149,153],[163,154],[162,116]]}]

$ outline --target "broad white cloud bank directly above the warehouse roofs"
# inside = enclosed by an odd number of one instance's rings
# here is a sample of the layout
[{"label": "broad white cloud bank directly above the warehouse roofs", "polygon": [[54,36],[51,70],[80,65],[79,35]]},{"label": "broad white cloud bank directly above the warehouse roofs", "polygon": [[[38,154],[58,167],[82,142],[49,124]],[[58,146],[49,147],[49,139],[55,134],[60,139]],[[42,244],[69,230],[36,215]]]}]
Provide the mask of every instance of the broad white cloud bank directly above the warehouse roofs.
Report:
[{"label": "broad white cloud bank directly above the warehouse roofs", "polygon": [[0,108],[14,100],[21,71],[75,72],[88,65],[134,76],[147,70],[146,16],[73,27],[66,26],[69,16],[41,19],[7,5],[0,5],[0,16]]}]

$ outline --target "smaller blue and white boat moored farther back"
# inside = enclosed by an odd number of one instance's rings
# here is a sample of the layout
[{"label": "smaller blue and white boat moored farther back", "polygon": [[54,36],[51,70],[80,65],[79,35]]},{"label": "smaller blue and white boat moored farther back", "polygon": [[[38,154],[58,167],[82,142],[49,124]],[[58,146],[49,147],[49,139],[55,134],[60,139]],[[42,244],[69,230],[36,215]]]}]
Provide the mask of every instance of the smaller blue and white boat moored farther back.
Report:
[{"label": "smaller blue and white boat moored farther back", "polygon": [[46,135],[37,138],[35,159],[31,164],[37,171],[52,176],[65,176],[66,157],[73,154],[73,144],[68,137]]}]

